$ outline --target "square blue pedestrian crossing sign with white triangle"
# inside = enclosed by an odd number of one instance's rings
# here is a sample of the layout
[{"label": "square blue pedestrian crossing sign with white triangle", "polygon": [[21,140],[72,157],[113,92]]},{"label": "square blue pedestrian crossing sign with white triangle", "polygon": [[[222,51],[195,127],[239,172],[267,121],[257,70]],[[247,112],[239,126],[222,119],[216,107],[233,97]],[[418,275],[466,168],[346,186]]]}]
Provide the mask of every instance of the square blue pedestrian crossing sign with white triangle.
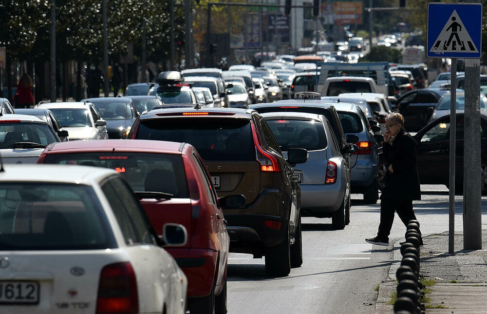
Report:
[{"label": "square blue pedestrian crossing sign with white triangle", "polygon": [[481,3],[428,3],[429,58],[480,58]]}]

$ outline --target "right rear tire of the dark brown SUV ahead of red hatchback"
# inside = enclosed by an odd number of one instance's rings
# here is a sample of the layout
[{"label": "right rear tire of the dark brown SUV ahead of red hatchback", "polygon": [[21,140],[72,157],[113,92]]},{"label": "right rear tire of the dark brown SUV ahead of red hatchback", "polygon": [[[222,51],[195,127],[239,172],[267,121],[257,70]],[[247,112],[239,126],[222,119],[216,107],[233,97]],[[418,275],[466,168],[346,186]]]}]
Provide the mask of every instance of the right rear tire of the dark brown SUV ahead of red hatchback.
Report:
[{"label": "right rear tire of the dark brown SUV ahead of red hatchback", "polygon": [[287,236],[284,236],[282,242],[278,245],[270,246],[265,249],[265,272],[267,275],[284,277],[291,273],[289,225],[285,228],[285,234]]}]

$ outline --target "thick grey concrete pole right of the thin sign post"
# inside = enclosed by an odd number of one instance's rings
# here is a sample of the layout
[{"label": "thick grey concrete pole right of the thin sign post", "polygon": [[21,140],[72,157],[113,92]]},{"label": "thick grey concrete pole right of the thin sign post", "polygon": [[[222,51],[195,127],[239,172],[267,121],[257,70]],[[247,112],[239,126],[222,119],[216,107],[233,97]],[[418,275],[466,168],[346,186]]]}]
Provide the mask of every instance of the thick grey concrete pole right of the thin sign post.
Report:
[{"label": "thick grey concrete pole right of the thin sign post", "polygon": [[465,59],[464,123],[463,246],[464,250],[481,250],[480,59]]}]

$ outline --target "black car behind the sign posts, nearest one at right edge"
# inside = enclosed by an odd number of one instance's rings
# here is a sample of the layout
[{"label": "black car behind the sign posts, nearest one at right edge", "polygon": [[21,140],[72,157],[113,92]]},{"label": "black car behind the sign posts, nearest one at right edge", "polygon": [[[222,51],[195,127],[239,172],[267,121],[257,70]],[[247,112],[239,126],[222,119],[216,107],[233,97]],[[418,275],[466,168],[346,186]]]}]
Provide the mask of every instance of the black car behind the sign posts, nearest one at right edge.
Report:
[{"label": "black car behind the sign posts, nearest one at right edge", "polygon": [[[481,114],[481,182],[482,194],[487,194],[487,115]],[[421,184],[445,184],[450,182],[450,116],[437,118],[415,136],[417,166]],[[455,191],[463,191],[464,114],[456,117]]]}]

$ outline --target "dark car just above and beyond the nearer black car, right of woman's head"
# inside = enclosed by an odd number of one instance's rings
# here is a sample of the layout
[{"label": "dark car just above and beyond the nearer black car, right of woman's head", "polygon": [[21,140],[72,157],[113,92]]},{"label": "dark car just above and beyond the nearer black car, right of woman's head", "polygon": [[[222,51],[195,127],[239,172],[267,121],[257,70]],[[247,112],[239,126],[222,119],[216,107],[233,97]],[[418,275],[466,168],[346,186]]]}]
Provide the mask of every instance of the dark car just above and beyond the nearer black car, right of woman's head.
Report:
[{"label": "dark car just above and beyond the nearer black car, right of woman's head", "polygon": [[394,101],[396,110],[404,117],[408,131],[419,131],[428,124],[434,107],[447,89],[415,89]]}]

